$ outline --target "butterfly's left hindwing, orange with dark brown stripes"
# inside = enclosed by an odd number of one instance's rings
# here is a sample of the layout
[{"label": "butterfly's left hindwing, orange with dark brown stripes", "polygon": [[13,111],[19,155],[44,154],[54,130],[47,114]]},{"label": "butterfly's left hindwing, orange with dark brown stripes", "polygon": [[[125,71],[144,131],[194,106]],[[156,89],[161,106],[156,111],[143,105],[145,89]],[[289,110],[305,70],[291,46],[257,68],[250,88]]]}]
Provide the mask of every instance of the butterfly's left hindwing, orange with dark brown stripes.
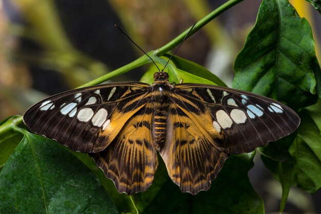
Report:
[{"label": "butterfly's left hindwing, orange with dark brown stripes", "polygon": [[119,192],[145,191],[154,180],[158,161],[151,139],[151,114],[149,103],[126,122],[104,151],[90,154]]}]

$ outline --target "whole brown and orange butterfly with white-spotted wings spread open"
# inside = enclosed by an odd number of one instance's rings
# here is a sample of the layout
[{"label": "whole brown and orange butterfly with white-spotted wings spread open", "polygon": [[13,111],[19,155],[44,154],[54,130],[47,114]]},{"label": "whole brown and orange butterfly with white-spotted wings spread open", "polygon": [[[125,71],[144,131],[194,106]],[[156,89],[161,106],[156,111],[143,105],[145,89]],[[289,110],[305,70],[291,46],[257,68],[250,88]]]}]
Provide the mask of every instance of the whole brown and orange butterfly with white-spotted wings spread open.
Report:
[{"label": "whole brown and orange butterfly with white-spotted wings spread open", "polygon": [[158,165],[182,192],[207,190],[230,154],[294,132],[286,105],[253,93],[208,84],[118,82],[63,92],[33,105],[28,129],[89,153],[119,192],[145,191]]}]

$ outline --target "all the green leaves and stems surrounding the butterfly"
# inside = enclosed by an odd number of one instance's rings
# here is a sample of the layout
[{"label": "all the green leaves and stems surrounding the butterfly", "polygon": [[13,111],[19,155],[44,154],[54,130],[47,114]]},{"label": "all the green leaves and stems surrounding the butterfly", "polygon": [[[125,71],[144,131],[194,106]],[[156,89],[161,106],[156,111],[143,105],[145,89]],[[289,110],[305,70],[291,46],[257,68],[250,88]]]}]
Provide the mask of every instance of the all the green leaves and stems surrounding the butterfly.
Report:
[{"label": "all the green leaves and stems surrounding the butterfly", "polygon": [[[241,1],[229,1],[213,11],[197,23],[192,33],[238,2]],[[165,65],[167,52],[187,31],[149,55],[158,65]],[[283,186],[280,211],[291,186],[311,193],[321,187],[321,85],[315,79],[321,71],[314,52],[307,20],[298,17],[287,0],[264,0],[257,22],[235,61],[234,88],[285,102],[302,119],[296,133],[259,149],[265,165]],[[142,56],[86,86],[149,62],[148,57]],[[225,85],[202,66],[177,56],[166,69],[174,82],[183,79]],[[151,66],[142,81],[150,83],[154,71],[155,67]],[[130,197],[118,194],[113,183],[87,155],[29,133],[22,117],[13,116],[1,122],[0,136],[2,213],[264,213],[263,201],[247,177],[255,152],[231,156],[211,188],[196,196],[180,192],[161,162],[151,187]]]}]

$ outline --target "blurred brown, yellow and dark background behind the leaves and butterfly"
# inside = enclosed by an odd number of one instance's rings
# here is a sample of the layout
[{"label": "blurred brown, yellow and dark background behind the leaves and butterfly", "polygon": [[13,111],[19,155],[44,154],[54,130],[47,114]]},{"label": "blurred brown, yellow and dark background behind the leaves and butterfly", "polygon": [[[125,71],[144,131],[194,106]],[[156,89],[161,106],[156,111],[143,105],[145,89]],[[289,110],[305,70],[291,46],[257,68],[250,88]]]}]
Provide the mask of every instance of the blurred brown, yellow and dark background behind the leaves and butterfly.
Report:
[{"label": "blurred brown, yellow and dark background behind the leaves and butterfly", "polygon": [[[73,89],[143,53],[157,49],[226,1],[216,0],[0,0],[0,120],[23,114],[48,95]],[[261,1],[246,0],[212,20],[180,47],[177,55],[216,74],[229,86],[233,62],[253,27]],[[321,15],[304,0],[292,0],[306,17],[321,60]],[[137,81],[148,67],[112,81]],[[266,213],[278,213],[280,184],[256,156],[251,183]],[[285,213],[321,213],[321,190],[292,188]]]}]

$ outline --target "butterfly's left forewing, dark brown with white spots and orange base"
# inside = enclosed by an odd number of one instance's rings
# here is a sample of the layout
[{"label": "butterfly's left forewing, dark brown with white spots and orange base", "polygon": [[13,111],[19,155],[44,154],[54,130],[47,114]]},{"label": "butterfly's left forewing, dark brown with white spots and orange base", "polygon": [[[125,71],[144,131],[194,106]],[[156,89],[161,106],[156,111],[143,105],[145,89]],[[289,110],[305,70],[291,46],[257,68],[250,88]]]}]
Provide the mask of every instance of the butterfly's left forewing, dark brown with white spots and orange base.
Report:
[{"label": "butterfly's left forewing, dark brown with white spots and orange base", "polygon": [[74,151],[99,152],[150,99],[148,86],[119,82],[67,91],[33,105],[24,122]]}]

